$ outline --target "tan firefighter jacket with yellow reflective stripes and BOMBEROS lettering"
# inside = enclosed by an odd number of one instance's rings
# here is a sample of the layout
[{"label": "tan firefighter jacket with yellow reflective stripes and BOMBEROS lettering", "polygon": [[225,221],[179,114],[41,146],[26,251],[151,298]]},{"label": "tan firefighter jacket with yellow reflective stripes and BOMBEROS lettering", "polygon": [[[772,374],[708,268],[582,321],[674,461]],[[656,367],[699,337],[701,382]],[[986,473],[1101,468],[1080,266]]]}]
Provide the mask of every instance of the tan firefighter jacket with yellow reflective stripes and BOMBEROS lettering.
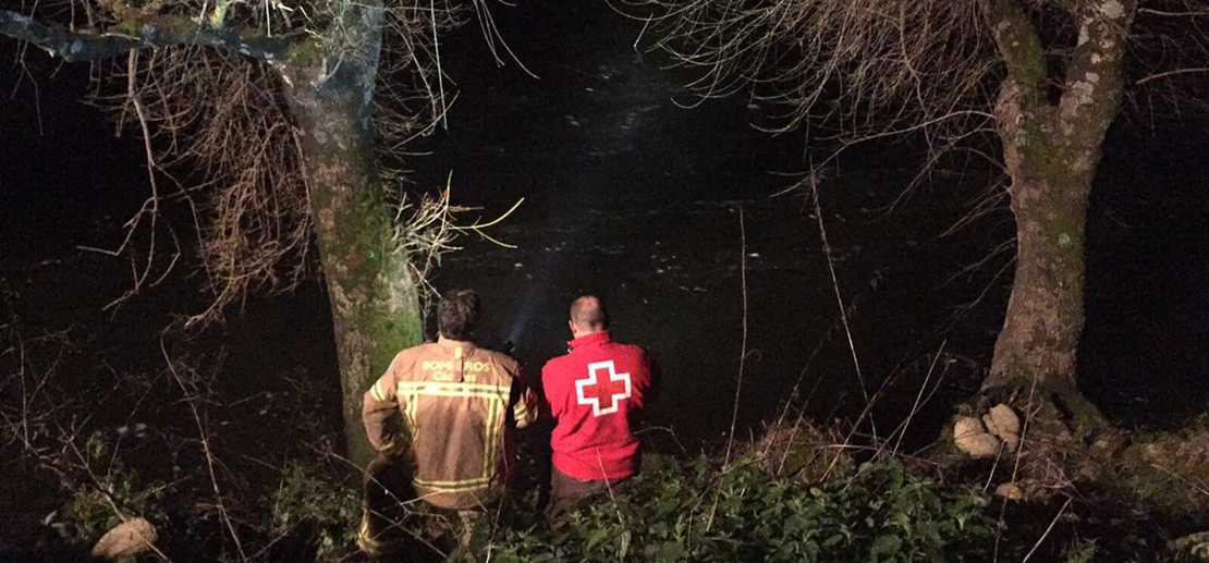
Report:
[{"label": "tan firefighter jacket with yellow reflective stripes and BOMBEROS lettering", "polygon": [[537,404],[516,360],[440,337],[400,352],[365,393],[361,418],[378,451],[401,446],[395,412],[410,434],[406,458],[420,498],[472,510],[503,491],[514,465],[513,430],[537,417]]}]

